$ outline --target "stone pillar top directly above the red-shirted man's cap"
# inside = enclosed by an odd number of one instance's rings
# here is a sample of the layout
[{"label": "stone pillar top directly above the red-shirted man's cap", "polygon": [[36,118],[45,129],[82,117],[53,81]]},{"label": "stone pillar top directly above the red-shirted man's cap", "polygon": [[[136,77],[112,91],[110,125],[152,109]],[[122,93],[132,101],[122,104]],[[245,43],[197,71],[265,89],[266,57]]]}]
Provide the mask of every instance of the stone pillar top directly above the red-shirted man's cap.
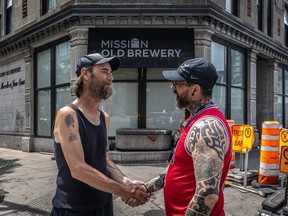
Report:
[{"label": "stone pillar top directly above the red-shirted man's cap", "polygon": [[207,58],[211,60],[211,42],[213,31],[207,28],[194,29],[195,58]]}]

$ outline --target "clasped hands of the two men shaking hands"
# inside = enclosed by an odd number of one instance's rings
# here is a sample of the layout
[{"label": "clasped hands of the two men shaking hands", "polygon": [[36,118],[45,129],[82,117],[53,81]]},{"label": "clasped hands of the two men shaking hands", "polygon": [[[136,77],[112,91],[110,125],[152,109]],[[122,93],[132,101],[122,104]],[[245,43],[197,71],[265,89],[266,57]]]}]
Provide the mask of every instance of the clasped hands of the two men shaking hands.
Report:
[{"label": "clasped hands of the two men shaking hands", "polygon": [[144,185],[144,182],[130,180],[128,178],[125,178],[123,182],[124,184],[122,186],[124,193],[120,194],[120,197],[122,198],[123,202],[131,207],[145,204],[153,195],[152,193],[149,193],[147,187]]}]

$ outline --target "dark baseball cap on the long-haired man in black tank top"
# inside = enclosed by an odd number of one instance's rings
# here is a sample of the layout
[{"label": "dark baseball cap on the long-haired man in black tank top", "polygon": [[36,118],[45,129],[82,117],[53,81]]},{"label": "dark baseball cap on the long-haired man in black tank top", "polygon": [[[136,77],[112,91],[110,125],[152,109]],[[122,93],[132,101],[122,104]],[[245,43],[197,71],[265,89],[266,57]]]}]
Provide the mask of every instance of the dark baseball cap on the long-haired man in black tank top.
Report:
[{"label": "dark baseball cap on the long-haired man in black tank top", "polygon": [[84,55],[79,59],[75,73],[77,77],[79,77],[81,74],[81,69],[83,67],[87,68],[93,65],[104,64],[107,62],[109,62],[112,71],[117,70],[120,66],[120,60],[116,56],[104,57],[100,53],[92,53],[89,55]]}]

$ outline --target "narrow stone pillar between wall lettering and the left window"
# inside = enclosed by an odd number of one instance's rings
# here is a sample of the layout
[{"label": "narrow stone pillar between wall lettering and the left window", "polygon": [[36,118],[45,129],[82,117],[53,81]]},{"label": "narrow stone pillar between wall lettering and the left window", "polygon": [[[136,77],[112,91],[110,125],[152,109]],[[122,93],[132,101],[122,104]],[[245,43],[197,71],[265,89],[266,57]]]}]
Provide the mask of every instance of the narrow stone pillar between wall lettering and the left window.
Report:
[{"label": "narrow stone pillar between wall lettering and the left window", "polygon": [[32,51],[29,49],[24,50],[25,62],[25,132],[22,137],[22,151],[33,151],[33,57]]}]

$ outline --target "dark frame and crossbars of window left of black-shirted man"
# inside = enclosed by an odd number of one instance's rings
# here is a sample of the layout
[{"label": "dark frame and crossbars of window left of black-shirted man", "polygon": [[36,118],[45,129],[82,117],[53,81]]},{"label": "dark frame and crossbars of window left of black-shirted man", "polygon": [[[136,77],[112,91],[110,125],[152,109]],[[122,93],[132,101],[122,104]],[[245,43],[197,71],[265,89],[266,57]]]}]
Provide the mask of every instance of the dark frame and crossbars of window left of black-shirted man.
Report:
[{"label": "dark frame and crossbars of window left of black-shirted man", "polygon": [[[59,88],[63,88],[63,87],[69,87],[70,88],[70,82],[71,80],[69,79],[67,82],[64,83],[59,83],[56,84],[56,46],[60,45],[62,43],[68,42],[69,43],[69,37],[64,37],[62,39],[59,39],[57,41],[54,41],[53,43],[50,44],[46,44],[43,47],[37,48],[35,49],[34,52],[34,101],[35,101],[35,106],[34,106],[34,134],[35,137],[43,137],[43,138],[51,138],[52,136],[52,128],[53,128],[53,123],[54,123],[54,119],[56,117],[56,91]],[[51,74],[50,74],[50,85],[45,86],[45,87],[39,87],[37,86],[37,63],[38,63],[38,59],[37,59],[37,54],[50,49],[50,58],[51,58],[51,62],[50,62],[50,66],[51,66]],[[70,49],[71,50],[71,49]],[[71,56],[70,56],[71,59]],[[71,65],[70,65],[71,66]],[[38,134],[38,123],[37,120],[39,118],[39,113],[38,113],[38,92],[43,91],[43,90],[50,90],[51,95],[50,95],[50,120],[51,120],[51,125],[50,125],[50,129],[51,129],[51,134],[48,135],[39,135]]]}]

